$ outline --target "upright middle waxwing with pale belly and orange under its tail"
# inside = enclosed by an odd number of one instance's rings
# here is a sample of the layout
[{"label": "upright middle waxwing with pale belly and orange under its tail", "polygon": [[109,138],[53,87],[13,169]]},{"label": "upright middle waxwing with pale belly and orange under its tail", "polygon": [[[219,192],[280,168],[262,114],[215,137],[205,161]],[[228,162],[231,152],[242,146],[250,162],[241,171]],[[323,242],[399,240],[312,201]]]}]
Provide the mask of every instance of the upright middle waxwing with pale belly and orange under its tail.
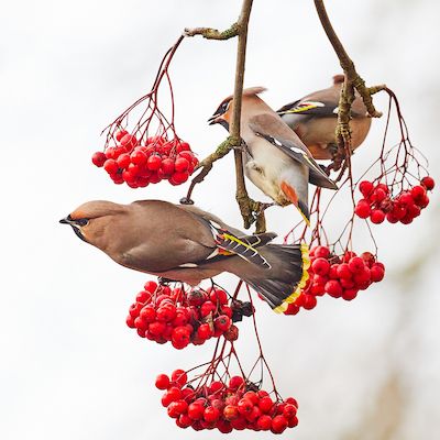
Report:
[{"label": "upright middle waxwing with pale belly and orange under its tail", "polygon": [[[315,162],[307,146],[282,118],[264,102],[262,87],[243,90],[240,135],[244,173],[248,178],[277,205],[295,205],[309,224],[308,183],[338,189]],[[210,124],[229,130],[233,113],[232,96],[223,99]]]}]

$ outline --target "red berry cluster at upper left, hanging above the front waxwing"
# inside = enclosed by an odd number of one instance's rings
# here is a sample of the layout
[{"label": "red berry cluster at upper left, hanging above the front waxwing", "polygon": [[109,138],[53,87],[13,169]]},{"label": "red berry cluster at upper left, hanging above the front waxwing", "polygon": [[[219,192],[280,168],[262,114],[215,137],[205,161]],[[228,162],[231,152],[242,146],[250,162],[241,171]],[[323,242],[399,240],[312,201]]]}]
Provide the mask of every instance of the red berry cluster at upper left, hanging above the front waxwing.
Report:
[{"label": "red berry cluster at upper left, hanging above the front waxwing", "polygon": [[131,188],[144,188],[166,179],[172,185],[180,185],[188,180],[198,164],[189,144],[179,139],[168,141],[154,136],[141,144],[127,131],[119,131],[116,139],[116,146],[91,157],[91,162],[103,167],[116,184],[125,182]]}]

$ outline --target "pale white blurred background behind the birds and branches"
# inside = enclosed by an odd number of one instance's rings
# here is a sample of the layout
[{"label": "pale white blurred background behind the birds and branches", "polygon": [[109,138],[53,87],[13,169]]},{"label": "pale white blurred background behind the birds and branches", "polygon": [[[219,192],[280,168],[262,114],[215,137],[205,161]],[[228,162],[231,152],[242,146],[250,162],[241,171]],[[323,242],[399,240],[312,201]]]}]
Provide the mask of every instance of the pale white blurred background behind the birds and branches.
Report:
[{"label": "pale white blurred background behind the birds and branches", "polygon": [[[367,84],[386,82],[398,94],[411,138],[436,176],[438,2],[328,3]],[[153,386],[161,372],[206,361],[212,345],[177,352],[135,337],[124,319],[146,276],[117,266],[57,221],[91,199],[182,197],[186,187],[117,187],[91,166],[90,155],[102,145],[100,130],[148,90],[162,55],[185,26],[223,29],[239,9],[232,0],[3,2],[2,439],[220,438],[177,429]],[[206,120],[232,91],[234,47],[234,41],[185,41],[170,69],[178,132],[201,157],[226,134]],[[279,107],[327,87],[339,70],[311,1],[255,1],[246,86],[266,86],[265,99]],[[376,102],[385,109],[385,99]],[[374,121],[356,154],[358,169],[377,154],[383,128],[383,120]],[[232,157],[216,165],[195,198],[240,226],[231,165]],[[257,305],[279,389],[300,404],[300,425],[283,438],[438,438],[438,216],[436,190],[429,209],[411,226],[375,228],[387,279],[353,302],[324,298],[296,317],[275,316]],[[332,217],[337,228],[340,211]],[[280,233],[297,219],[290,208],[268,215],[271,229]],[[367,237],[358,243],[361,251],[371,246]],[[414,261],[420,271],[411,277]],[[251,360],[256,350],[251,328],[240,328],[239,349]]]}]

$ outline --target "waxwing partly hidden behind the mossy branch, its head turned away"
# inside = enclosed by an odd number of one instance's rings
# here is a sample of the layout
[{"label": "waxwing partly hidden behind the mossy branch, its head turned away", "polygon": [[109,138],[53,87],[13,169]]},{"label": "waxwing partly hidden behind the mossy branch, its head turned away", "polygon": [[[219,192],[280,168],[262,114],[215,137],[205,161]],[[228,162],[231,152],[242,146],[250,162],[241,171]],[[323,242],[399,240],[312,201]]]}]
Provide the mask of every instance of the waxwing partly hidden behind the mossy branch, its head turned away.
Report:
[{"label": "waxwing partly hidden behind the mossy branch, its head turned away", "polygon": [[[277,110],[317,160],[331,160],[338,152],[334,131],[343,81],[343,75],[336,75],[333,85],[328,89],[315,91]],[[351,117],[351,147],[354,151],[365,140],[371,125],[371,118],[358,91]]]}]

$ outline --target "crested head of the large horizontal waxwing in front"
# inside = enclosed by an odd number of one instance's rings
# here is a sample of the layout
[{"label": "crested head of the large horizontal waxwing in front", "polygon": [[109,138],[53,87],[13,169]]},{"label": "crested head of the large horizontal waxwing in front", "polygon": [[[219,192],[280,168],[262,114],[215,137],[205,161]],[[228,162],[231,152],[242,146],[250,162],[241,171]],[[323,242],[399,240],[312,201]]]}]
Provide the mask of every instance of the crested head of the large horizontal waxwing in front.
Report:
[{"label": "crested head of the large horizontal waxwing in front", "polygon": [[101,248],[100,238],[106,224],[111,221],[112,216],[120,212],[122,206],[118,204],[105,200],[88,201],[61,219],[59,223],[69,224],[82,241]]}]

